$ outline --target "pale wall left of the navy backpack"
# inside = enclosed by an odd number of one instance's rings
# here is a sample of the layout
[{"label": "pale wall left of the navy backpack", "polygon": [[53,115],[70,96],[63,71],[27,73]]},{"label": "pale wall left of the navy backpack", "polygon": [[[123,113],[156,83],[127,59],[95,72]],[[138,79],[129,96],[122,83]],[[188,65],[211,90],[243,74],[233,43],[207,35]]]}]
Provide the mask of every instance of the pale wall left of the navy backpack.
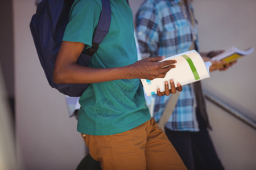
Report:
[{"label": "pale wall left of the navy backpack", "polygon": [[30,33],[34,0],[13,0],[18,169],[75,169],[85,143],[64,96],[47,82]]}]

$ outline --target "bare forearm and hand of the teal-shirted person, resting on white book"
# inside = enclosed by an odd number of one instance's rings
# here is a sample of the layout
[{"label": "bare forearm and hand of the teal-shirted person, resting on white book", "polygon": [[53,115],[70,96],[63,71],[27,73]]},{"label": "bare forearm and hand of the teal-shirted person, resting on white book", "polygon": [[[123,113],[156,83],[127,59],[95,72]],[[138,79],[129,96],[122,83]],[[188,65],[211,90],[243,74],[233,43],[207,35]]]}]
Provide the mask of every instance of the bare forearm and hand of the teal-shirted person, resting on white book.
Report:
[{"label": "bare forearm and hand of the teal-shirted person, resting on white book", "polygon": [[162,57],[151,57],[137,61],[131,65],[114,68],[96,69],[71,63],[56,69],[53,80],[57,84],[100,83],[117,79],[154,79],[164,78],[166,73],[175,67],[176,61],[158,62]]}]

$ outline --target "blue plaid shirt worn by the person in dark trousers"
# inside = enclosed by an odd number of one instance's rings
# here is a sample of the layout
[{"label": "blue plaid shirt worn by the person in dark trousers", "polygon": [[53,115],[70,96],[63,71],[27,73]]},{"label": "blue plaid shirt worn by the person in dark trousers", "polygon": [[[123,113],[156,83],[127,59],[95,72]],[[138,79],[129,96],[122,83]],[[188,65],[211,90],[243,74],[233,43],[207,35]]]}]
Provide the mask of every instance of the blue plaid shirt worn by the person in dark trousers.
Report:
[{"label": "blue plaid shirt worn by the person in dark trousers", "polygon": [[[188,51],[193,42],[198,46],[196,24],[195,29],[191,29],[192,24],[189,21],[191,18],[186,15],[188,11],[184,12],[184,8],[181,8],[182,4],[181,0],[143,2],[136,20],[142,58],[174,56]],[[188,6],[192,10],[190,2]],[[170,96],[154,95],[154,97],[154,118],[159,121]],[[190,84],[185,85],[166,128],[176,131],[199,131],[195,109],[196,100],[193,88]]]}]

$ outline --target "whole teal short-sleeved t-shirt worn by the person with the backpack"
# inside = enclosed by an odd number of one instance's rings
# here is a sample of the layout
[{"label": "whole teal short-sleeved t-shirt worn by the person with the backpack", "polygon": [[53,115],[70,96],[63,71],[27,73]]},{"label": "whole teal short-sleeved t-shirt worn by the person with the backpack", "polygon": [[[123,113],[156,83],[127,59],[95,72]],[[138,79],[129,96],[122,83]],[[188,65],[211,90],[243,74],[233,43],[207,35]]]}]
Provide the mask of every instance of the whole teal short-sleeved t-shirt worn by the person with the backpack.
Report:
[{"label": "whole teal short-sleeved t-shirt worn by the person with the backpack", "polygon": [[[90,67],[109,68],[137,61],[133,14],[126,0],[110,0],[109,33],[90,59]],[[63,41],[92,45],[101,12],[100,0],[77,0],[71,8]],[[125,76],[130,76],[127,73]],[[112,135],[133,129],[150,120],[139,79],[121,79],[89,84],[79,100],[77,130],[90,135]]]}]

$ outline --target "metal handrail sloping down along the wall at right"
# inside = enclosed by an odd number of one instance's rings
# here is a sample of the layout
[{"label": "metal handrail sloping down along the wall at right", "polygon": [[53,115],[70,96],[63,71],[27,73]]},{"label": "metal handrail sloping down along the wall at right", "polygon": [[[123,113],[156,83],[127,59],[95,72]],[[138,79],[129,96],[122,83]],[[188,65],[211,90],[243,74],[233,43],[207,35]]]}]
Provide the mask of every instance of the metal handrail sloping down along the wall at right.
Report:
[{"label": "metal handrail sloping down along the wall at right", "polygon": [[216,104],[218,107],[224,109],[226,112],[232,114],[232,116],[238,118],[245,124],[251,126],[251,128],[253,128],[254,130],[256,130],[256,121],[255,120],[253,120],[252,118],[246,116],[245,114],[243,114],[241,112],[238,112],[236,109],[230,107],[228,104],[224,103],[220,99],[217,99],[217,97],[213,96],[212,94],[210,94],[209,92],[207,92],[205,90],[204,90],[204,95],[207,100]]}]

